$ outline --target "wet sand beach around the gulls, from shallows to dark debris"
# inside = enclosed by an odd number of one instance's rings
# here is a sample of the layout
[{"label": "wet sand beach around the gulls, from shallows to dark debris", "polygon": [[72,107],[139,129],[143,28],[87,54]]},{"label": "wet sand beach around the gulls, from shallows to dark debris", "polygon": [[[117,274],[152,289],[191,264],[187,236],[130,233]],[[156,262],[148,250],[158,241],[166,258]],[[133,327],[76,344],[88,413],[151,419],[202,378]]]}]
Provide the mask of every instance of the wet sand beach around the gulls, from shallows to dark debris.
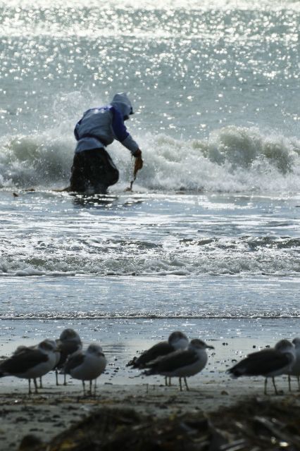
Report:
[{"label": "wet sand beach around the gulls, from shallows to dark debris", "polygon": [[[44,328],[48,326],[44,323]],[[289,326],[291,326],[289,335],[293,330],[292,335],[289,336],[289,339],[292,339],[296,335],[296,323]],[[80,327],[85,330],[85,323],[82,323]],[[196,325],[193,327],[195,328]],[[42,330],[42,332],[39,330],[39,334],[51,336],[51,330]],[[146,328],[143,330],[147,335]],[[114,346],[104,344],[104,352],[108,364],[105,373],[97,381],[96,397],[84,397],[82,395],[81,382],[69,376],[67,385],[62,385],[63,376],[59,375],[61,385],[56,386],[54,371],[47,373],[43,377],[43,388],[39,389],[39,393],[30,396],[27,394],[28,384],[25,379],[1,378],[0,450],[19,450],[20,443],[26,435],[34,435],[35,438],[42,440],[42,443],[50,443],[57,435],[68,434],[68,429],[70,427],[76,428],[80,421],[85,419],[89,421],[90,415],[92,415],[92,418],[98,415],[98,412],[104,412],[107,415],[107,409],[113,409],[113,419],[118,417],[118,412],[119,414],[123,412],[122,417],[125,415],[125,418],[129,415],[130,421],[133,422],[132,424],[130,423],[132,428],[138,426],[137,419],[138,421],[149,422],[149,419],[146,419],[149,416],[151,417],[150,423],[152,423],[152,420],[158,422],[170,421],[170,418],[178,419],[179,421],[182,415],[196,415],[197,418],[199,416],[207,418],[207,416],[216,415],[219,419],[224,419],[229,413],[223,414],[220,412],[222,412],[222,409],[227,408],[232,409],[231,414],[234,412],[236,416],[239,416],[241,407],[236,407],[237,405],[242,405],[244,416],[248,417],[250,415],[250,419],[251,414],[247,414],[248,409],[254,409],[254,412],[256,412],[257,407],[253,407],[253,404],[256,402],[262,402],[263,405],[266,404],[267,406],[273,402],[279,402],[281,406],[280,412],[285,412],[287,406],[292,405],[292,412],[295,412],[296,406],[300,404],[300,393],[297,391],[296,378],[292,380],[292,393],[289,393],[287,376],[277,377],[276,385],[280,395],[275,396],[271,381],[268,383],[268,395],[263,394],[263,377],[232,379],[228,375],[227,369],[239,359],[244,358],[249,352],[263,349],[265,346],[275,345],[279,338],[287,336],[283,334],[286,334],[288,329],[282,330],[282,327],[270,328],[268,335],[268,330],[261,328],[261,335],[264,335],[264,338],[259,336],[258,331],[256,338],[253,337],[253,324],[251,330],[252,338],[249,337],[250,333],[246,329],[239,335],[239,338],[229,338],[228,336],[222,340],[220,338],[218,340],[215,338],[206,340],[215,349],[208,351],[208,363],[204,370],[188,379],[189,391],[184,390],[180,392],[177,378],[172,379],[170,387],[165,387],[162,376],[141,376],[138,370],[130,369],[126,366],[132,357],[138,355],[142,350],[148,349],[157,341],[158,337],[156,340],[150,340],[149,337],[146,340],[124,339],[123,342]],[[277,330],[276,333],[275,330]],[[53,335],[56,336],[58,334],[54,333]],[[94,331],[92,335],[93,338],[101,341],[97,331]],[[106,335],[107,342],[113,342],[113,331],[104,334],[102,330],[100,335]],[[124,335],[126,336],[126,334]],[[199,333],[194,334],[194,336],[199,335]],[[268,339],[266,338],[267,336]],[[32,333],[27,338],[25,338],[25,335],[21,338],[20,336],[17,338],[15,335],[3,336],[1,342],[3,354],[1,357],[8,357],[15,350],[15,347],[21,343],[32,345],[33,342],[40,338],[42,338],[42,335],[38,335],[33,340]],[[86,345],[87,342],[85,342],[85,347]],[[115,409],[118,411],[116,414]],[[134,413],[124,414],[125,411],[127,412],[127,409]],[[259,416],[258,411],[257,415]],[[197,421],[199,421],[199,418]],[[238,422],[237,418],[235,418],[233,423],[235,424],[236,421]],[[228,424],[227,426],[230,425]],[[147,428],[149,429],[148,426]],[[172,429],[173,426],[170,426],[170,428]],[[116,427],[117,429],[118,427]],[[107,431],[104,431],[104,436],[106,437],[106,435]],[[107,436],[110,435],[108,434]],[[141,440],[147,439],[142,438]],[[135,445],[132,446],[132,449],[135,449]],[[22,447],[21,449],[32,451],[35,448],[32,448],[32,443],[30,442],[29,448]],[[44,450],[44,448],[40,449]],[[60,450],[63,448],[57,447],[54,449]],[[70,447],[70,449],[81,450],[80,447]],[[90,449],[94,450],[93,447]],[[111,449],[114,448],[112,447]],[[171,447],[170,449],[173,448]],[[51,450],[51,447],[49,450]]]}]

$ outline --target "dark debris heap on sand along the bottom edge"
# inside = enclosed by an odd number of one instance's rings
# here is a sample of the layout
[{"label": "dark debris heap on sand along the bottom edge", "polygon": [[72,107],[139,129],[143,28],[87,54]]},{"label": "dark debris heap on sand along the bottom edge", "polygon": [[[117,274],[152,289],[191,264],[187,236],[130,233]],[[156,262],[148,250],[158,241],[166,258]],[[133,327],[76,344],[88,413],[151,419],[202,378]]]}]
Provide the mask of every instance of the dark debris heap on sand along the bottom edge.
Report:
[{"label": "dark debris heap on sand along the bottom edge", "polygon": [[[27,438],[28,439],[28,438]],[[28,446],[27,446],[28,445]],[[133,409],[101,408],[43,445],[24,438],[21,451],[300,450],[300,403],[247,400],[217,412],[154,418]]]}]

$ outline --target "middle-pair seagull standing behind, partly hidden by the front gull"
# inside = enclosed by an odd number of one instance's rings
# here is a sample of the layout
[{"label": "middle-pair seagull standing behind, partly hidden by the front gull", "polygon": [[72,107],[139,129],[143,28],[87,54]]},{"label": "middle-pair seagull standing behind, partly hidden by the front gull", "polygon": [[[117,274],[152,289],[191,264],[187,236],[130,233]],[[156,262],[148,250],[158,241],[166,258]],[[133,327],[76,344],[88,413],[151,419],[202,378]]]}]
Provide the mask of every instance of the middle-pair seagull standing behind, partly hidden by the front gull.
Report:
[{"label": "middle-pair seagull standing behind, partly hidden by the front gull", "polygon": [[[164,355],[170,354],[171,352],[177,350],[185,350],[188,345],[189,339],[187,338],[187,335],[180,332],[180,330],[175,330],[175,332],[169,335],[168,341],[156,343],[156,345],[150,347],[149,350],[144,351],[139,357],[135,357],[128,362],[127,366],[132,366],[132,368],[137,369],[144,369],[149,362],[152,362],[158,357],[163,357]],[[168,385],[166,377],[165,385]]]}]

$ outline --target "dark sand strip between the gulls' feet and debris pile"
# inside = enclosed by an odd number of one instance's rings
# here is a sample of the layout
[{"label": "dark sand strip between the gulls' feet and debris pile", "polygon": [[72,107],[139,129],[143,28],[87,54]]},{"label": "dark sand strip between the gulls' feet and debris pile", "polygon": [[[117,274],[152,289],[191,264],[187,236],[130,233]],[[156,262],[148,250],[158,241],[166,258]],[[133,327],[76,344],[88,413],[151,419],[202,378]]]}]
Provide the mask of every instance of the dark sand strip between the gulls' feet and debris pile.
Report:
[{"label": "dark sand strip between the gulls' feet and debris pile", "polygon": [[[1,451],[33,449],[31,445],[20,447],[21,441],[28,434],[35,435],[43,443],[49,443],[56,435],[87,418],[91,413],[108,407],[134,409],[140,416],[150,415],[153,419],[171,417],[174,419],[185,414],[206,415],[220,412],[236,404],[239,405],[238,409],[241,409],[242,405],[244,410],[254,399],[267,404],[274,401],[285,406],[290,404],[293,409],[296,407],[300,409],[300,393],[297,391],[296,381],[293,381],[293,391],[289,393],[285,377],[277,378],[277,388],[280,390],[278,396],[273,394],[271,383],[268,388],[270,395],[263,395],[263,378],[232,380],[227,375],[215,377],[209,381],[191,378],[190,390],[182,392],[175,380],[173,380],[174,385],[165,387],[163,381],[155,381],[149,385],[144,381],[131,385],[117,385],[101,383],[99,379],[96,397],[84,397],[81,385],[77,381],[70,380],[68,385],[56,387],[52,379],[44,382],[44,388],[39,390],[39,394],[29,396],[26,383],[18,383],[19,381],[18,379],[1,380]],[[57,449],[67,449],[67,447]],[[72,446],[69,449],[73,449]],[[236,450],[239,449],[246,448],[236,447]],[[261,448],[254,447],[253,450],[255,449]],[[296,450],[297,447],[282,445],[274,449]]]}]

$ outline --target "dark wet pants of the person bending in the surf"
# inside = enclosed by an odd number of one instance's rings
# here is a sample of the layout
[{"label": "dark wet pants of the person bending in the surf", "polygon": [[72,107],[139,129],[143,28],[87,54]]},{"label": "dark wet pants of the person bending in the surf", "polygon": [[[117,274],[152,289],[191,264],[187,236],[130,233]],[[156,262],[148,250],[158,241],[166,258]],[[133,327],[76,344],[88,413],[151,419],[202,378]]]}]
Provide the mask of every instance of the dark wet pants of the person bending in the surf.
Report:
[{"label": "dark wet pants of the person bending in the surf", "polygon": [[75,154],[71,171],[70,191],[104,194],[119,179],[119,171],[105,149]]}]

